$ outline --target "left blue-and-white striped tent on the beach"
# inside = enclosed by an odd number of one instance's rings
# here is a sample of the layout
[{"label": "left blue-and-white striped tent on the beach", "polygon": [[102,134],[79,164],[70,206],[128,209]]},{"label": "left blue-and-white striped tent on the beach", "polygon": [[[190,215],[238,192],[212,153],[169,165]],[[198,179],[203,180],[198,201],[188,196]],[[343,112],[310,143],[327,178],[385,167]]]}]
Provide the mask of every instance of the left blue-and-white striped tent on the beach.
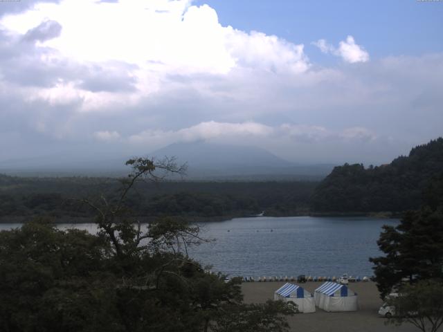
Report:
[{"label": "left blue-and-white striped tent on the beach", "polygon": [[274,299],[297,304],[300,313],[315,313],[314,297],[304,288],[287,282],[274,293]]}]

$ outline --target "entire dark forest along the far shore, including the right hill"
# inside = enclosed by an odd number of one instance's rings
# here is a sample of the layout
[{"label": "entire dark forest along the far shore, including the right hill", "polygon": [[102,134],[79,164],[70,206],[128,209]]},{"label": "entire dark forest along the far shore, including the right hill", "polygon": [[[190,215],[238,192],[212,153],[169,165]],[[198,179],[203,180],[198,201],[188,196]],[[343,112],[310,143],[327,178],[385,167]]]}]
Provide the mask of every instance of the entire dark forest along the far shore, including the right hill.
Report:
[{"label": "entire dark forest along the far shore, including the right hill", "polygon": [[[443,170],[443,138],[414,147],[388,165],[335,167],[314,181],[161,181],[137,183],[127,197],[134,215],[217,220],[307,214],[398,214],[419,207],[422,192]],[[93,215],[80,203],[100,194],[118,196],[122,179],[109,177],[17,177],[0,174],[0,222],[29,216],[82,222]]]}]

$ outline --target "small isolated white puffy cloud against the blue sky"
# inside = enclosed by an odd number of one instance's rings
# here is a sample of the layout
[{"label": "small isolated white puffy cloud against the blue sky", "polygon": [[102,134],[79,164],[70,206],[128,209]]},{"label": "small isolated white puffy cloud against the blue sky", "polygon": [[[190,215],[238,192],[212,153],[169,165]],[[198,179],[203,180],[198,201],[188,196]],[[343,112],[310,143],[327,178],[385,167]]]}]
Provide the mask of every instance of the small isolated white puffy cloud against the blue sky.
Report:
[{"label": "small isolated white puffy cloud against the blue sky", "polygon": [[369,53],[363,46],[355,44],[354,37],[352,36],[347,36],[346,41],[342,40],[338,44],[338,48],[327,44],[325,39],[318,39],[317,42],[312,42],[311,44],[320,48],[323,53],[332,53],[350,64],[369,61]]}]

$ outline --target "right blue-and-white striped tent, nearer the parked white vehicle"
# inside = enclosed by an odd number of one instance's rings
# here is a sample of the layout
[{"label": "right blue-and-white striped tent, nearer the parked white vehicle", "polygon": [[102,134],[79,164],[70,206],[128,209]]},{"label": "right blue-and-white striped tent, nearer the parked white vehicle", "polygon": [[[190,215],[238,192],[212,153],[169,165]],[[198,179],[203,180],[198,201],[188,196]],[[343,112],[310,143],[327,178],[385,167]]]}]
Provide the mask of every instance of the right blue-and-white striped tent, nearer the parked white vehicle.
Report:
[{"label": "right blue-and-white striped tent, nearer the parked white vehicle", "polygon": [[324,311],[356,311],[359,309],[357,293],[336,282],[325,282],[315,290],[316,306]]}]

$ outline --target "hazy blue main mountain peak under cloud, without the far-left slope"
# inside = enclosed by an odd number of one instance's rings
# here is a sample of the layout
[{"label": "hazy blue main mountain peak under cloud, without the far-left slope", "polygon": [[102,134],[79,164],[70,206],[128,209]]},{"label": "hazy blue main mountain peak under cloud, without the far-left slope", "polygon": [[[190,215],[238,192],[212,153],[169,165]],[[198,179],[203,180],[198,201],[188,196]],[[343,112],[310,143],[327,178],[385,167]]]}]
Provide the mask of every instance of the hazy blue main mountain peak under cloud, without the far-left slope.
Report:
[{"label": "hazy blue main mountain peak under cloud, without the far-left slope", "polygon": [[260,147],[222,145],[209,142],[174,143],[152,153],[175,156],[177,163],[188,164],[188,178],[284,179],[323,178],[333,165],[291,163]]}]

